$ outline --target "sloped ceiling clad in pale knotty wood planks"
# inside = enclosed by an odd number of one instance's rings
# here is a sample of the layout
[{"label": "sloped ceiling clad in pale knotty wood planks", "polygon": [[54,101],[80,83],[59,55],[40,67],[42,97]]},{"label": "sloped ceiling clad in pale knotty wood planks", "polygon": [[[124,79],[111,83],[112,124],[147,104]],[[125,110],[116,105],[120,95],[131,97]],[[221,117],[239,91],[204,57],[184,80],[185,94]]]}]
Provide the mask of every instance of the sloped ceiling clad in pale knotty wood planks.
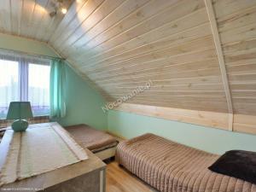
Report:
[{"label": "sloped ceiling clad in pale knotty wood planks", "polygon": [[1,0],[0,32],[49,43],[108,101],[151,80],[128,102],[227,113],[229,91],[256,115],[255,0],[212,2],[224,76],[204,0],[77,0],[53,18],[49,2]]}]

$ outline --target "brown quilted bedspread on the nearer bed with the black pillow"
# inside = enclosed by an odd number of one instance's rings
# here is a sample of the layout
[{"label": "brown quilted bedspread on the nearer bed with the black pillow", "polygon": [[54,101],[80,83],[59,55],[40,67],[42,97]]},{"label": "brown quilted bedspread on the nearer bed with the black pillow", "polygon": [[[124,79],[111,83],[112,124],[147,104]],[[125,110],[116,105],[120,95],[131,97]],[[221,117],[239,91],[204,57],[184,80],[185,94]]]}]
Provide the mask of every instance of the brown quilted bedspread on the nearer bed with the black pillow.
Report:
[{"label": "brown quilted bedspread on the nearer bed with the black pillow", "polygon": [[145,134],[119,143],[116,159],[161,192],[256,192],[256,185],[207,169],[216,154]]}]

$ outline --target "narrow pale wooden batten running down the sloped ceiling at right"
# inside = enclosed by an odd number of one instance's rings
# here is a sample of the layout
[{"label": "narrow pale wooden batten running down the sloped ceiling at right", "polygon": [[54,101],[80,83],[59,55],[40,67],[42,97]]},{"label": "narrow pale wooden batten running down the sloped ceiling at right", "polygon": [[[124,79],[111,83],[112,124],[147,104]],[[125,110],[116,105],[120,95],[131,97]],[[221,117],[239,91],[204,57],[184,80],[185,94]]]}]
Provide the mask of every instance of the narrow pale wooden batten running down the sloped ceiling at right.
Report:
[{"label": "narrow pale wooden batten running down the sloped ceiling at right", "polygon": [[207,15],[210,21],[210,25],[212,28],[212,36],[214,40],[214,44],[216,47],[216,52],[218,55],[218,64],[224,84],[224,91],[225,91],[225,96],[228,104],[228,109],[229,109],[229,130],[233,131],[233,119],[234,119],[234,113],[233,113],[233,105],[232,105],[232,99],[231,99],[231,94],[230,94],[230,84],[229,84],[229,79],[227,76],[226,72],[226,67],[224,63],[224,54],[223,54],[223,49],[222,45],[220,42],[219,38],[219,33],[218,33],[218,26],[217,26],[217,20],[216,16],[214,14],[214,9],[212,6],[212,0],[205,0],[206,7],[207,7]]}]

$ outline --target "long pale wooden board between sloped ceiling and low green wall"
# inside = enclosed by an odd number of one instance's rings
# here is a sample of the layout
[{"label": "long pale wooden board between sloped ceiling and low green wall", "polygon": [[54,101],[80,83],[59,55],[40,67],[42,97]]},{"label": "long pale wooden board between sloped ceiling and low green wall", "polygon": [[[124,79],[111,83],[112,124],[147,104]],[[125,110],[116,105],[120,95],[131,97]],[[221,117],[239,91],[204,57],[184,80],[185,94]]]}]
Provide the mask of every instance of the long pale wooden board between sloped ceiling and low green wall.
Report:
[{"label": "long pale wooden board between sloped ceiling and low green wall", "polygon": [[[256,117],[242,114],[196,111],[181,108],[164,108],[148,105],[123,103],[114,110],[137,113],[162,119],[177,120],[184,123],[204,125],[229,131],[256,134]],[[234,117],[233,117],[234,116]],[[230,122],[230,117],[232,121]],[[230,129],[230,123],[232,129]]]}]

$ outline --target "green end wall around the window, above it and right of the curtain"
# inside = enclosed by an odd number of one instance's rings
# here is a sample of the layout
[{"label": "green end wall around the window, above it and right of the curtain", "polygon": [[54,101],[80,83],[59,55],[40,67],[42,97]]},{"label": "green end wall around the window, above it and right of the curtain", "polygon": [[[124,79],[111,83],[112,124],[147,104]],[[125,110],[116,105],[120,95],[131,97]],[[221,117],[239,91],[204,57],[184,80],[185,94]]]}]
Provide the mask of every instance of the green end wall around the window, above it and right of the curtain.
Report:
[{"label": "green end wall around the window, above it and right of the curtain", "polygon": [[[19,38],[0,33],[0,48],[20,50],[31,54],[56,56],[47,44],[27,38]],[[96,90],[92,90],[86,82],[74,73],[71,67],[66,67],[66,105],[67,116],[63,119],[53,119],[61,125],[88,124],[98,129],[108,127],[108,114],[103,113],[104,100]]]}]

